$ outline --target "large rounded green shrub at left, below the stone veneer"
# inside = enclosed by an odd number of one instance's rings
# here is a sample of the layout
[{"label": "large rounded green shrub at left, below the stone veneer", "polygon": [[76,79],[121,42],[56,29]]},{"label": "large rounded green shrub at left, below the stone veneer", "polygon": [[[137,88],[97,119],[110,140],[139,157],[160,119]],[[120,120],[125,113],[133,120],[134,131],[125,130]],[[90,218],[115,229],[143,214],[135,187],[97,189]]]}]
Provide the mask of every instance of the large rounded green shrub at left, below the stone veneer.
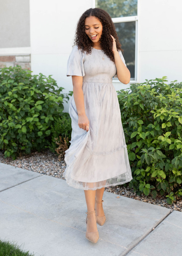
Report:
[{"label": "large rounded green shrub at left, below the stone veneer", "polygon": [[0,149],[5,157],[45,148],[63,100],[69,99],[51,75],[31,72],[20,66],[0,69]]}]

